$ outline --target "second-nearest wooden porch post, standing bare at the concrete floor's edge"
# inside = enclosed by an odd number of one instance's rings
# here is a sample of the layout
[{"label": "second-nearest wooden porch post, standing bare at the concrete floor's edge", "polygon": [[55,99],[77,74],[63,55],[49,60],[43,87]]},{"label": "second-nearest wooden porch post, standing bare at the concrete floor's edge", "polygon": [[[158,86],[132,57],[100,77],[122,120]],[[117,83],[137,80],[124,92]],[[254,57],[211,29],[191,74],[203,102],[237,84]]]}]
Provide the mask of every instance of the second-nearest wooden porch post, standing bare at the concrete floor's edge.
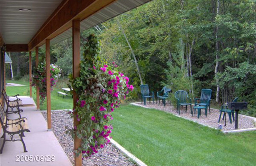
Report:
[{"label": "second-nearest wooden porch post, standing bare at the concrete floor's edge", "polygon": [[52,131],[52,110],[51,110],[51,81],[50,81],[50,39],[45,40],[46,53],[46,98],[47,98],[47,126]]}]

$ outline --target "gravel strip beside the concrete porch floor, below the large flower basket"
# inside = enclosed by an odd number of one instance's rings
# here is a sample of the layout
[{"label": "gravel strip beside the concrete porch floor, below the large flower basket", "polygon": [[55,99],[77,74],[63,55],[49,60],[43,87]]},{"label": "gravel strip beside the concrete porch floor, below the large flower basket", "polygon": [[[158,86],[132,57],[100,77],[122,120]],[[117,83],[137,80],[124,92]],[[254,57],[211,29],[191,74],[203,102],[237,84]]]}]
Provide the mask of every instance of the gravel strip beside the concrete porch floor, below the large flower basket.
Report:
[{"label": "gravel strip beside the concrete porch floor, below the large flower basket", "polygon": [[[47,119],[47,113],[41,112]],[[60,142],[61,147],[64,149],[69,160],[74,165],[74,139],[65,133],[65,126],[73,126],[73,119],[68,115],[68,111],[52,111],[52,132]],[[99,150],[91,158],[83,160],[85,166],[136,166],[130,158],[124,156],[124,154],[116,149],[111,143],[108,146]]]}]

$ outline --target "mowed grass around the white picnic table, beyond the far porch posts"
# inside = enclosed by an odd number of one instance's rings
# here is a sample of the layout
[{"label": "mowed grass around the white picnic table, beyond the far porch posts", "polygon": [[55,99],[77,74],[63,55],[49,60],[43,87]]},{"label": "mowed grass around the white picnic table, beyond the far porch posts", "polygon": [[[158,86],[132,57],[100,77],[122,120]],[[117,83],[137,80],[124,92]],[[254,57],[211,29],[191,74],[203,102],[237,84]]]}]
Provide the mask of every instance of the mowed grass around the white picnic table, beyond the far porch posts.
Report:
[{"label": "mowed grass around the white picnic table, beyond the far porch posts", "polygon": [[[22,81],[22,80],[6,80],[7,83],[16,83],[21,84],[25,86],[11,86],[6,87],[6,93],[7,95],[16,95],[20,94],[21,96],[29,96],[29,82],[28,81]],[[58,84],[59,82],[57,82]],[[66,86],[67,87],[67,86]],[[51,94],[51,105],[52,110],[56,109],[72,109],[73,108],[73,99],[70,94],[68,96],[64,96],[64,99],[62,98],[62,95],[57,94],[58,91],[64,92],[61,88],[58,89],[57,87],[53,88],[52,94]],[[34,101],[36,102],[36,89],[32,87],[32,96]],[[40,106],[40,110],[46,110],[47,104],[46,100],[44,102],[44,105]]]}]

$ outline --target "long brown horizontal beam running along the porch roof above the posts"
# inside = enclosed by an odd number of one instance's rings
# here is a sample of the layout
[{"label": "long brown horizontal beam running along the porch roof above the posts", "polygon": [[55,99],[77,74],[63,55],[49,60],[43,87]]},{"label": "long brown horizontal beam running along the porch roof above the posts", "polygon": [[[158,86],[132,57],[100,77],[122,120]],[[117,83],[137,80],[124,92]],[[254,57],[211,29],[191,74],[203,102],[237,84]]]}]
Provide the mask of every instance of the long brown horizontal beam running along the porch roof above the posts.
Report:
[{"label": "long brown horizontal beam running along the porch roof above the posts", "polygon": [[52,39],[68,30],[72,20],[84,20],[116,0],[63,0],[58,8],[46,20],[43,26],[28,43],[28,50],[44,44],[45,39]]}]

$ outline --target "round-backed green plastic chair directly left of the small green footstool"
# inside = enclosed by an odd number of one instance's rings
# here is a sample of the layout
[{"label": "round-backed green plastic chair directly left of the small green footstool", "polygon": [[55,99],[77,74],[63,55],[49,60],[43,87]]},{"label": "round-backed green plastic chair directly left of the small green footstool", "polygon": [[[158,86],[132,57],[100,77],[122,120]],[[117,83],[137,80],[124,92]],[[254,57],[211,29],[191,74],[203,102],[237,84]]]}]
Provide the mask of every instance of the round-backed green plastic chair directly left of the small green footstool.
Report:
[{"label": "round-backed green plastic chair directly left of the small green footstool", "polygon": [[177,112],[179,110],[179,114],[180,114],[180,106],[183,106],[183,105],[186,106],[186,112],[187,112],[188,105],[190,105],[190,112],[192,114],[192,102],[191,102],[191,98],[188,97],[188,93],[184,90],[178,90],[175,92],[174,96],[177,100]]}]

